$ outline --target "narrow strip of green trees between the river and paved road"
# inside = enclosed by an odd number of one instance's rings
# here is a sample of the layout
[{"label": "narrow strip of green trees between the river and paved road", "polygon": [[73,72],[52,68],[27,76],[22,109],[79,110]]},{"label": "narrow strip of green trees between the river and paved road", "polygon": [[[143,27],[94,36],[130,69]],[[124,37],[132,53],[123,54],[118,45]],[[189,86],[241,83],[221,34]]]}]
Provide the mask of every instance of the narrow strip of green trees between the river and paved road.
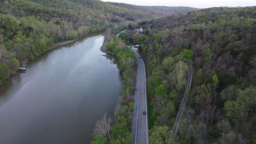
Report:
[{"label": "narrow strip of green trees between the river and paved road", "polygon": [[[118,38],[108,41],[106,49],[116,55],[118,67],[122,73],[123,90],[118,100],[114,120],[110,121],[104,115],[102,119],[97,121],[91,144],[132,144],[131,126],[135,108],[136,58],[128,45],[125,45]],[[103,123],[102,121],[106,121],[104,119],[109,119],[108,123]],[[102,127],[103,131],[101,130]]]}]

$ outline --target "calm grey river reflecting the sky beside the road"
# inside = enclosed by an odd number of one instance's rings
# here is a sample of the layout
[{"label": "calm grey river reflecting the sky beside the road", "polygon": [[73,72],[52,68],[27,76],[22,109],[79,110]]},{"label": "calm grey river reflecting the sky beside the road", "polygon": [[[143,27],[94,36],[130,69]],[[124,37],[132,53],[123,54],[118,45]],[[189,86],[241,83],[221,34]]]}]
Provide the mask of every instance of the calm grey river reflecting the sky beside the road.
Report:
[{"label": "calm grey river reflecting the sky beside the road", "polygon": [[122,89],[103,40],[92,35],[51,50],[0,87],[0,144],[90,144]]}]

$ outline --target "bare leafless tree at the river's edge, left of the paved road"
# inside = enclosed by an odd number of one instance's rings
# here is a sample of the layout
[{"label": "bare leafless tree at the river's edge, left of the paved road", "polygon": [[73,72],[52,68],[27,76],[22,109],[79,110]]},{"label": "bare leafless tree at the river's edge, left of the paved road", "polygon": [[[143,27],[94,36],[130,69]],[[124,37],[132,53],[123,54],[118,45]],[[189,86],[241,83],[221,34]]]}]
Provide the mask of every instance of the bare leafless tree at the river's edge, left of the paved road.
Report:
[{"label": "bare leafless tree at the river's edge, left of the paved road", "polygon": [[110,123],[111,118],[107,119],[106,113],[104,113],[103,117],[96,122],[96,126],[93,129],[93,135],[103,135],[104,137],[109,137],[110,139]]}]

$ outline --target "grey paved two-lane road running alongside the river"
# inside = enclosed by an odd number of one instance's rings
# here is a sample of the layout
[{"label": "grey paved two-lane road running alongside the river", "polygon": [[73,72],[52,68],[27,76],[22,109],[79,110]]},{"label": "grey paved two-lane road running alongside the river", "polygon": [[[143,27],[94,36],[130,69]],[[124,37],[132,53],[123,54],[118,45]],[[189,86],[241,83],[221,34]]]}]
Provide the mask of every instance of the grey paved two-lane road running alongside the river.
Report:
[{"label": "grey paved two-lane road running alongside the river", "polygon": [[[132,47],[137,58],[137,84],[135,111],[133,118],[133,140],[134,144],[148,144],[148,124],[146,105],[146,69],[141,56],[137,53],[137,48]],[[146,114],[143,115],[143,111]]]}]

